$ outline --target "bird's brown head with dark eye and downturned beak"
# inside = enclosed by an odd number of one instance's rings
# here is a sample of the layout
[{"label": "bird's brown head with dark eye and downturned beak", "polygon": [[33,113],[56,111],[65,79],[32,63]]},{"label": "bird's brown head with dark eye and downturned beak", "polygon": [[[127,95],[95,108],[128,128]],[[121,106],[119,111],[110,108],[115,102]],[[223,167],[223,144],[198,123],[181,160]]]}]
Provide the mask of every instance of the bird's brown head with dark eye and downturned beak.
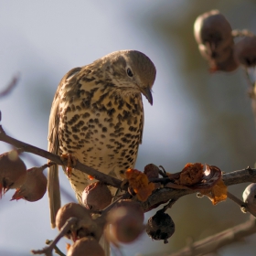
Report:
[{"label": "bird's brown head with dark eye and downturned beak", "polygon": [[143,93],[153,104],[152,87],[155,82],[154,63],[137,50],[115,51],[105,57],[106,71],[119,92]]}]

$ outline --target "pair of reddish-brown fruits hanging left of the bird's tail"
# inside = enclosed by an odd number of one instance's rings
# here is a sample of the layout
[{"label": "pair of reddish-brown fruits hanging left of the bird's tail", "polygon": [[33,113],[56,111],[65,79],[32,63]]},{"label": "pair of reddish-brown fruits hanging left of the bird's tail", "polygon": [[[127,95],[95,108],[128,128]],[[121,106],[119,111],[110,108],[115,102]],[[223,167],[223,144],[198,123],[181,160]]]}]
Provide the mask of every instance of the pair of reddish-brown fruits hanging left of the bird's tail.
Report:
[{"label": "pair of reddish-brown fruits hanging left of the bird's tail", "polygon": [[27,170],[16,150],[0,155],[0,197],[16,188],[12,200],[22,198],[34,202],[41,199],[47,190],[47,178],[43,174],[47,167],[43,165]]}]

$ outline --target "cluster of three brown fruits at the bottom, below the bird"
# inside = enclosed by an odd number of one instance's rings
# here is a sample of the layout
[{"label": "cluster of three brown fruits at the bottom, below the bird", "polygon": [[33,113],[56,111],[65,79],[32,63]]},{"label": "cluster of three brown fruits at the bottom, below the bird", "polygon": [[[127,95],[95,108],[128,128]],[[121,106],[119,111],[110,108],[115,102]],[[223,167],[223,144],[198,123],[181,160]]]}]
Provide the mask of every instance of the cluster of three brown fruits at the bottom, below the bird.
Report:
[{"label": "cluster of three brown fruits at the bottom, below the bird", "polygon": [[[91,192],[89,192],[90,194]],[[91,196],[92,197],[92,196]],[[60,208],[56,217],[56,226],[62,229],[69,218],[77,221],[65,236],[74,243],[69,247],[69,256],[105,255],[99,240],[105,231],[105,237],[113,244],[130,243],[144,231],[144,212],[140,204],[132,200],[121,200],[112,209],[93,219],[91,211],[76,203],[69,203]]]}]

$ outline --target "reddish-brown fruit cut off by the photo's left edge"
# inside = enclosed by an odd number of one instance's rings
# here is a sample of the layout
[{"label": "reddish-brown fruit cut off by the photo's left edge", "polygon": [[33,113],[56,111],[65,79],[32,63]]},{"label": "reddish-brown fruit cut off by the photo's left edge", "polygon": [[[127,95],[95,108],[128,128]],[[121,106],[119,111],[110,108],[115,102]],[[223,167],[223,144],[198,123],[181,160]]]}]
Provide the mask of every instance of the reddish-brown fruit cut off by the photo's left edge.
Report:
[{"label": "reddish-brown fruit cut off by the photo's left edge", "polygon": [[0,197],[3,192],[20,187],[26,181],[26,169],[16,150],[0,155]]}]

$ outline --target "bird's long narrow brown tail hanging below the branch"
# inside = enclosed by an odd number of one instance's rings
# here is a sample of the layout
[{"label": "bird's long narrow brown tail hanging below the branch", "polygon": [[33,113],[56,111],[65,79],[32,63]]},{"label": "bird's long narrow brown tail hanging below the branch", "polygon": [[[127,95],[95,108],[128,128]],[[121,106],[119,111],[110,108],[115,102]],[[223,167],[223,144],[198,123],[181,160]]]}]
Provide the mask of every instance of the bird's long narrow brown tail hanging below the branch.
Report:
[{"label": "bird's long narrow brown tail hanging below the branch", "polygon": [[59,165],[51,165],[48,168],[48,201],[51,228],[54,229],[55,218],[60,208]]}]

